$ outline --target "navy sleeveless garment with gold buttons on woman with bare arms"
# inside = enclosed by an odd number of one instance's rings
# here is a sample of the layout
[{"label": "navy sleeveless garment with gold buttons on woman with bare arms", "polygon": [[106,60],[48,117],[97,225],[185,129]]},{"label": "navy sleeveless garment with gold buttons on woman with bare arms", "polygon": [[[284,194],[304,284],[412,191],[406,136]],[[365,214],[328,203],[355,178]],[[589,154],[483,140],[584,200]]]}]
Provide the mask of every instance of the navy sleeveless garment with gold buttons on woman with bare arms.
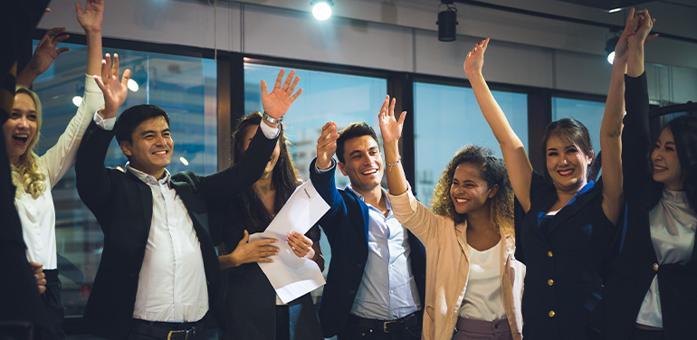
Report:
[{"label": "navy sleeveless garment with gold buttons on woman with bare arms", "polygon": [[606,264],[616,255],[621,230],[603,212],[602,188],[602,179],[589,183],[551,218],[545,232],[539,216],[557,201],[557,191],[542,175],[532,174],[530,211],[516,219],[515,256],[527,268],[524,338],[587,338],[588,316],[602,295]]}]

